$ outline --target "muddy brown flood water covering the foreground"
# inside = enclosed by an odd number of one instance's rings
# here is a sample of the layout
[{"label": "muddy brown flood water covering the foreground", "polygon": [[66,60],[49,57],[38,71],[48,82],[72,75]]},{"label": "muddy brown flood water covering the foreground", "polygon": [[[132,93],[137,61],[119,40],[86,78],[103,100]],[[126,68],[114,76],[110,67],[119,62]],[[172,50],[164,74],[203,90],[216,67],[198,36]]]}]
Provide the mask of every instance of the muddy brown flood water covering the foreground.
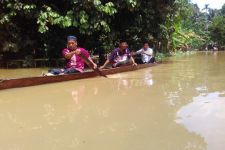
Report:
[{"label": "muddy brown flood water covering the foreground", "polygon": [[225,149],[225,53],[0,91],[0,150],[72,149]]}]

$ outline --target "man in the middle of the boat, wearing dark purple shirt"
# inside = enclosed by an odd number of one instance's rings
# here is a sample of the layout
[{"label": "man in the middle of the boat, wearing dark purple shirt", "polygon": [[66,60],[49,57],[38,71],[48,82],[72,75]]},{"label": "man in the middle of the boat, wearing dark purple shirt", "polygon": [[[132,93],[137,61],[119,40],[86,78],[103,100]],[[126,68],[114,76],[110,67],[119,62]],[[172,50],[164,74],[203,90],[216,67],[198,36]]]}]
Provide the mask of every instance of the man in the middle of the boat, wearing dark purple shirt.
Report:
[{"label": "man in the middle of the boat, wearing dark purple shirt", "polygon": [[109,63],[112,64],[112,67],[120,67],[123,65],[137,65],[131,56],[131,53],[128,49],[127,42],[124,40],[120,41],[119,47],[114,49],[109,57],[107,58],[106,62],[104,63],[103,66],[100,67],[100,69],[105,68]]}]

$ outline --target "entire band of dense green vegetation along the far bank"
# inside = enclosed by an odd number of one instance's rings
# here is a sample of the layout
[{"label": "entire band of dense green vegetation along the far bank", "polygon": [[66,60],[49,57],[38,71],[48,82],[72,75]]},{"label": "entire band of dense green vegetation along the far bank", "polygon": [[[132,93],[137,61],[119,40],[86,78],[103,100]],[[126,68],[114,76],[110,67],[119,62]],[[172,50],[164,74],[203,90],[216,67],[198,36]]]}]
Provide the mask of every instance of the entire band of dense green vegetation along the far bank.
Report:
[{"label": "entire band of dense green vegetation along the far bank", "polygon": [[169,52],[225,43],[225,5],[204,11],[188,0],[0,0],[0,53],[60,57],[67,35],[107,52],[126,39],[132,50],[150,41]]}]

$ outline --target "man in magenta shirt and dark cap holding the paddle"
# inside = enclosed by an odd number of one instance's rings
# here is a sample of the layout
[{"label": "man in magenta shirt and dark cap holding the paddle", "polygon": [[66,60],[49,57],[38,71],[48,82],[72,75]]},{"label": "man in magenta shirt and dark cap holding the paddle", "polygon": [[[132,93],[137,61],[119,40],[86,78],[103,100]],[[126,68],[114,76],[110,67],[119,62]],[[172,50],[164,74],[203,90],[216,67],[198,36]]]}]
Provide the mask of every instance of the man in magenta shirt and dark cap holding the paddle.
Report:
[{"label": "man in magenta shirt and dark cap holding the paddle", "polygon": [[84,71],[84,60],[81,58],[81,54],[93,64],[94,68],[97,68],[97,65],[91,59],[88,51],[78,47],[77,38],[75,36],[68,36],[67,48],[62,50],[62,55],[66,59],[65,68],[51,69],[49,70],[49,73],[53,75],[82,73]]}]

